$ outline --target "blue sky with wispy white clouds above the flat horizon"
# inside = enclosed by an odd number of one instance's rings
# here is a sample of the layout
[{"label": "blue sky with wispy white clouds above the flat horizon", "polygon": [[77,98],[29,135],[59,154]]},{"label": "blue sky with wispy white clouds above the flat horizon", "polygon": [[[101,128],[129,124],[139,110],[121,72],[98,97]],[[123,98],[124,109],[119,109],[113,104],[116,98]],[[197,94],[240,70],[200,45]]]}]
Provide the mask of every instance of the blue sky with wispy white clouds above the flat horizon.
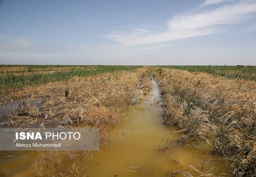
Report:
[{"label": "blue sky with wispy white clouds above the flat horizon", "polygon": [[256,65],[256,0],[0,0],[0,64]]}]

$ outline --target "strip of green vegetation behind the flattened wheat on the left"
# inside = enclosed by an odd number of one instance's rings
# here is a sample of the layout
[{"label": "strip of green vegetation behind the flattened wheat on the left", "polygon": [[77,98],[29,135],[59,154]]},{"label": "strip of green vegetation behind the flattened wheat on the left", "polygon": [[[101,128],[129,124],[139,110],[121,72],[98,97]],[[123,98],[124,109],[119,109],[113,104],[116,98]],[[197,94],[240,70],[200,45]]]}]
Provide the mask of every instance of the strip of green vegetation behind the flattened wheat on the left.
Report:
[{"label": "strip of green vegetation behind the flattened wheat on the left", "polygon": [[[9,65],[9,67],[13,67]],[[19,67],[19,66],[15,66]],[[13,87],[24,87],[28,85],[38,85],[42,83],[47,83],[51,81],[63,81],[67,80],[71,77],[86,77],[89,75],[96,75],[100,73],[106,72],[116,72],[116,71],[131,71],[137,69],[137,66],[94,66],[94,69],[88,69],[88,66],[81,66],[82,69],[71,69],[69,71],[55,71],[53,73],[36,73],[36,68],[42,68],[44,66],[29,66],[32,68],[34,72],[30,75],[26,75],[28,72],[21,72],[21,73],[13,73],[7,72],[6,74],[1,73],[0,77],[0,90],[13,88]],[[59,67],[66,67],[66,66],[55,66]],[[69,66],[72,67],[72,66]],[[75,66],[73,66],[75,67]],[[77,66],[76,66],[77,67]]]}]

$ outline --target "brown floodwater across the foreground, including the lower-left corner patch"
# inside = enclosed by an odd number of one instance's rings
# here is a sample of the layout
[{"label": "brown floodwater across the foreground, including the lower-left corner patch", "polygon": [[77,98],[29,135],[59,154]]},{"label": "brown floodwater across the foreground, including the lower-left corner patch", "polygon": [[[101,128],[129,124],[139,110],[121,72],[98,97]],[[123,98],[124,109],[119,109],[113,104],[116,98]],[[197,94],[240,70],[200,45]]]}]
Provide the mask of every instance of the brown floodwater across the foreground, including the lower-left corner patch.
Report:
[{"label": "brown floodwater across the foreground, including the lower-left corner patch", "polygon": [[[110,141],[101,145],[100,151],[95,152],[88,163],[83,164],[81,161],[80,166],[85,166],[86,170],[79,173],[79,176],[168,176],[174,170],[189,172],[193,176],[199,176],[200,172],[214,176],[232,174],[224,157],[209,155],[212,145],[202,143],[202,148],[197,149],[179,146],[166,151],[160,150],[166,142],[178,138],[178,135],[175,132],[177,130],[162,124],[162,102],[158,85],[154,80],[152,84],[153,90],[145,100],[125,112],[123,120],[113,129]],[[31,174],[30,165],[38,155],[39,152],[13,152],[9,157],[2,156],[0,176]],[[204,163],[205,159],[209,159],[207,164]]]}]

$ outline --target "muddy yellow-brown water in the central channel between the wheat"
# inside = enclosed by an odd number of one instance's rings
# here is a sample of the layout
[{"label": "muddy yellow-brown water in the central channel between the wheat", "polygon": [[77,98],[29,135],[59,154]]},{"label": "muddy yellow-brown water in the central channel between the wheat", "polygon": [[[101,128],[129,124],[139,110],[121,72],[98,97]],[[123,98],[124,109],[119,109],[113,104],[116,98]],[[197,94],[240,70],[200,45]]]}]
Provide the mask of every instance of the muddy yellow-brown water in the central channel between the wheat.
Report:
[{"label": "muddy yellow-brown water in the central channel between the wheat", "polygon": [[[177,147],[159,151],[168,139],[174,139],[177,135],[174,129],[162,124],[158,85],[154,80],[152,84],[152,92],[144,102],[129,108],[125,120],[114,130],[110,143],[101,147],[88,164],[85,176],[168,176],[177,168],[189,169],[187,165],[202,172],[212,169],[210,172],[215,175],[225,171],[230,174],[226,170],[226,162],[218,160],[222,157],[212,157],[212,161],[203,166],[209,149],[198,151]],[[194,170],[187,172],[199,176]]]}]

